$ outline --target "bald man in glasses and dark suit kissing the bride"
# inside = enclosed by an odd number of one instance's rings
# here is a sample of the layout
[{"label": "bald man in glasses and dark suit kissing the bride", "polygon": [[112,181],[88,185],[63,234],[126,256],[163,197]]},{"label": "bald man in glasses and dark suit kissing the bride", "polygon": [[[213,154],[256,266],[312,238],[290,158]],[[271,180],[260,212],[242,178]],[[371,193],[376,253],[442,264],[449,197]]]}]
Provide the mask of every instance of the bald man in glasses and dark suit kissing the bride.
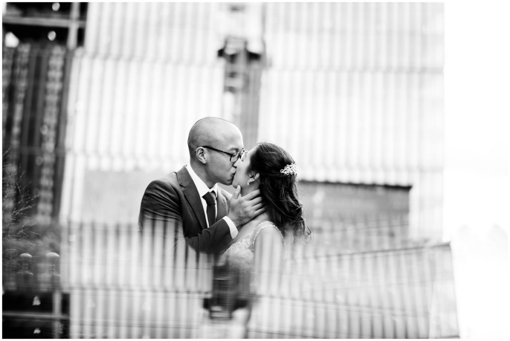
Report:
[{"label": "bald man in glasses and dark suit kissing the bride", "polygon": [[143,228],[150,219],[179,224],[190,246],[216,253],[232,242],[240,226],[264,212],[264,205],[258,190],[243,197],[240,187],[231,195],[218,186],[232,185],[246,155],[234,124],[215,117],[198,120],[190,129],[188,150],[189,164],[147,186],[139,224]]}]

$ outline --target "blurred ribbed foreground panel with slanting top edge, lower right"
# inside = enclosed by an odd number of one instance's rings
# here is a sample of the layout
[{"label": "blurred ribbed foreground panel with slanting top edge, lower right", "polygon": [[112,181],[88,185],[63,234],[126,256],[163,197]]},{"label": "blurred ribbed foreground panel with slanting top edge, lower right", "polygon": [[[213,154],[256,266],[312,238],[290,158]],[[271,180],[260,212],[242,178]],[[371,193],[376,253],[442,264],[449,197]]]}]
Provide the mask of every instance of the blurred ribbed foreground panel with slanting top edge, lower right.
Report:
[{"label": "blurred ribbed foreground panel with slanting top edge, lower right", "polygon": [[248,337],[458,335],[448,244],[322,257],[305,253],[288,265],[284,278],[279,295],[264,297],[253,313]]}]

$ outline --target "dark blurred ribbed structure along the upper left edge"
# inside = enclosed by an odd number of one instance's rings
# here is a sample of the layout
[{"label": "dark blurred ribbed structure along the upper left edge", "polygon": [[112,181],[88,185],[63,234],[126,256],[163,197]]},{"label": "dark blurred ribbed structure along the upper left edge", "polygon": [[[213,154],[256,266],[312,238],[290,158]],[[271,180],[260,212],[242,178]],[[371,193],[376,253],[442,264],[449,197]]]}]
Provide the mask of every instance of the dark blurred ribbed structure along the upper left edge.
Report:
[{"label": "dark blurred ribbed structure along the upper left edge", "polygon": [[74,49],[83,45],[87,4],[4,5],[4,162],[38,196],[33,216],[48,224],[59,215],[70,70]]}]

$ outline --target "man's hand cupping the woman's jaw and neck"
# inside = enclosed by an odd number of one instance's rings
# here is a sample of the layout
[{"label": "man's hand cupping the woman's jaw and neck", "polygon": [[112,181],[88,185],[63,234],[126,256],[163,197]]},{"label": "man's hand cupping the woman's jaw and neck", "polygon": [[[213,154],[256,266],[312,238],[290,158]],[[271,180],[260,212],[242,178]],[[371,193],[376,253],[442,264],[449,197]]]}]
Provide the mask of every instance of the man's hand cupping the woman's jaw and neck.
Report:
[{"label": "man's hand cupping the woman's jaw and neck", "polygon": [[230,202],[228,202],[227,216],[236,224],[237,228],[266,210],[260,196],[260,190],[256,189],[245,196],[241,196],[240,193],[241,186],[237,186]]}]

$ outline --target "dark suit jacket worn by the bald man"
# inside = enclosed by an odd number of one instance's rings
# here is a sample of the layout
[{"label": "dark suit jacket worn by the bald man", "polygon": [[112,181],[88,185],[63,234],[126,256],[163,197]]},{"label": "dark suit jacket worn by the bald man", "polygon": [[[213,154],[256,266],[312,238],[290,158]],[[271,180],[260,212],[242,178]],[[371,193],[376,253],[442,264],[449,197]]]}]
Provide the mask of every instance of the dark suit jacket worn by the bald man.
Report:
[{"label": "dark suit jacket worn by the bald man", "polygon": [[195,250],[219,252],[232,242],[228,224],[221,219],[227,213],[227,201],[231,196],[218,186],[217,221],[207,228],[206,215],[196,186],[186,167],[182,167],[180,171],[154,180],[147,186],[140,205],[138,223],[141,228],[150,219],[171,224],[166,226],[182,225],[186,242]]}]

